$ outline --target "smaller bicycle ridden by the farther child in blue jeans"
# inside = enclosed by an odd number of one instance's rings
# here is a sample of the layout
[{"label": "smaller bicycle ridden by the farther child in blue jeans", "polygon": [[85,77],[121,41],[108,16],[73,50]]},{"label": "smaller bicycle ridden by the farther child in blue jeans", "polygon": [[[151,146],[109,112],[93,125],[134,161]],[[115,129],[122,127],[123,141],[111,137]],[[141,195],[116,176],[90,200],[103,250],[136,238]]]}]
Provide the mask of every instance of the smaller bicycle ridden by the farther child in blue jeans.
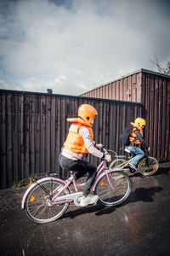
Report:
[{"label": "smaller bicycle ridden by the farther child in blue jeans", "polygon": [[[127,152],[127,156],[117,156],[117,159],[111,162],[109,169],[121,168],[124,172],[128,172],[129,170],[130,172],[135,172],[135,170],[132,170],[129,166],[132,160],[131,152],[127,148],[125,148],[125,151]],[[142,173],[142,175],[149,176],[154,174],[158,167],[158,161],[154,157],[144,156],[142,160],[139,160],[137,170]]]}]

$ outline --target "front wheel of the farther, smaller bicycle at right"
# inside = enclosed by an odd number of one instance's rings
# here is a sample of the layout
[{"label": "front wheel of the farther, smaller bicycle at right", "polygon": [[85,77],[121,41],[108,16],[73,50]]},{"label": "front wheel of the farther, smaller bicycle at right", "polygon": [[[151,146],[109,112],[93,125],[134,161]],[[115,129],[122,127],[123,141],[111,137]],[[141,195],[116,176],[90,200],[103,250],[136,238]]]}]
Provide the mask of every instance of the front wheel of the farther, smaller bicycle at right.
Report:
[{"label": "front wheel of the farther, smaller bicycle at right", "polygon": [[[147,164],[148,159],[148,164]],[[138,169],[139,172],[142,173],[144,176],[150,176],[156,173],[159,167],[158,161],[154,157],[148,156],[147,158],[144,157],[143,160],[139,161]]]}]

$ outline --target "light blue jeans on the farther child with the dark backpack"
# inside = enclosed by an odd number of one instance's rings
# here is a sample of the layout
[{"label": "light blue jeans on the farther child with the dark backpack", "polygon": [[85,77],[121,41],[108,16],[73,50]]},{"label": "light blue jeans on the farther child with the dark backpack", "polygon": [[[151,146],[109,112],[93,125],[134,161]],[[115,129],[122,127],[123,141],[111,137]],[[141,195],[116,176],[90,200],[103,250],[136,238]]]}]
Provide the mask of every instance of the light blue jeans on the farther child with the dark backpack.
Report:
[{"label": "light blue jeans on the farther child with the dark backpack", "polygon": [[131,152],[132,160],[130,161],[130,164],[137,166],[139,160],[144,157],[144,151],[136,146],[125,146],[125,149],[128,149]]}]

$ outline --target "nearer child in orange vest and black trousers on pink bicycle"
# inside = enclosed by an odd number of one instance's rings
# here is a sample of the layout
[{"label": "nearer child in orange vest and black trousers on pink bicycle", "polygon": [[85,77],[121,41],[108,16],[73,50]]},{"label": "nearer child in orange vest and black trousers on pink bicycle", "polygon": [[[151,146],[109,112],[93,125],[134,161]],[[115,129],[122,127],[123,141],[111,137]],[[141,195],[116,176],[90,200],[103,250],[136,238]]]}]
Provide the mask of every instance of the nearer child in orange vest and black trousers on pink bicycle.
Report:
[{"label": "nearer child in orange vest and black trousers on pink bicycle", "polygon": [[89,153],[111,161],[110,154],[104,154],[99,151],[103,145],[94,142],[92,125],[94,124],[95,115],[98,115],[98,112],[93,106],[83,104],[78,108],[78,118],[67,119],[72,124],[59,156],[60,166],[74,172],[76,179],[88,172],[88,178],[80,201],[81,207],[93,204],[99,199],[98,195],[89,195],[97,174],[97,168],[88,163],[88,161],[82,160],[83,154]]}]

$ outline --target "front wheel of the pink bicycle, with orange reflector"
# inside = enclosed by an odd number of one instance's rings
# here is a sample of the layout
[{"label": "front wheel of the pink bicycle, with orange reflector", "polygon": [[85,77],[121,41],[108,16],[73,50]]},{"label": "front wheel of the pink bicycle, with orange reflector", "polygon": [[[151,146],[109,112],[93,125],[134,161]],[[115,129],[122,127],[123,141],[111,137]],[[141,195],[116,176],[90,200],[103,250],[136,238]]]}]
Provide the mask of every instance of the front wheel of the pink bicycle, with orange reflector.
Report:
[{"label": "front wheel of the pink bicycle, with orange reflector", "polygon": [[[119,176],[119,178],[117,178],[117,176]],[[127,173],[111,171],[109,173],[109,180],[106,174],[99,179],[94,194],[99,196],[100,204],[112,207],[125,201],[131,190],[132,183]]]}]

